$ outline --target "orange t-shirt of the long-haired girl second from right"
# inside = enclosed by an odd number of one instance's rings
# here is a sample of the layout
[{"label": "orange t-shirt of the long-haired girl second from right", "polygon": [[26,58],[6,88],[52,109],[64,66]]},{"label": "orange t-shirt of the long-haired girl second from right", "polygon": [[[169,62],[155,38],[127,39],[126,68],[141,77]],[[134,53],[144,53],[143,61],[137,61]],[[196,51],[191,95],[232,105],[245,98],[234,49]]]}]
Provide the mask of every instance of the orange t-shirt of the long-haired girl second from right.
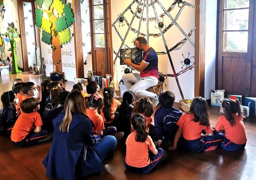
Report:
[{"label": "orange t-shirt of the long-haired girl second from right", "polygon": [[177,125],[182,128],[183,138],[186,140],[195,140],[201,138],[202,130],[206,133],[212,133],[212,127],[200,125],[200,122],[192,121],[194,119],[194,114],[185,113],[182,114],[177,122]]}]

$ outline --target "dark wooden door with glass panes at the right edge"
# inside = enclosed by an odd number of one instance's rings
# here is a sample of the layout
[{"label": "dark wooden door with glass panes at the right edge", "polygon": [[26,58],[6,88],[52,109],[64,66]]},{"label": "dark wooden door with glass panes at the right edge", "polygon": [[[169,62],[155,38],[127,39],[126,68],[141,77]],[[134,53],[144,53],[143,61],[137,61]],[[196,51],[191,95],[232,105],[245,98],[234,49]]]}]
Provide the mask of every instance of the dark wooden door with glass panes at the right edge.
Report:
[{"label": "dark wooden door with glass panes at the right edge", "polygon": [[225,89],[226,95],[251,95],[254,4],[219,1],[217,88]]}]

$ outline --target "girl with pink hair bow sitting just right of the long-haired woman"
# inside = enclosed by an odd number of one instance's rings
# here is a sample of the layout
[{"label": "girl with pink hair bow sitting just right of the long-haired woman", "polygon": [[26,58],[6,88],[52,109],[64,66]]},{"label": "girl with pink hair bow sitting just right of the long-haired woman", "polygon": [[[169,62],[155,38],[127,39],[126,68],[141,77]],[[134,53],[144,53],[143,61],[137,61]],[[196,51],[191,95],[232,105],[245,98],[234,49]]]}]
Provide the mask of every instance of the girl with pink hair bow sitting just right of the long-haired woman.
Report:
[{"label": "girl with pink hair bow sitting just right of the long-haired woman", "polygon": [[[104,137],[106,135],[117,134],[117,128],[114,126],[110,126],[105,129],[103,118],[100,114],[98,114],[98,110],[101,109],[103,106],[102,98],[97,94],[93,94],[93,95],[88,95],[87,99],[88,99],[87,104],[89,108],[86,109],[86,111],[87,111],[87,116],[90,118],[90,120],[94,124],[94,126],[92,127],[92,131],[94,135],[96,135],[98,138],[101,138],[101,136]],[[119,136],[120,135],[117,135],[117,138]]]}]

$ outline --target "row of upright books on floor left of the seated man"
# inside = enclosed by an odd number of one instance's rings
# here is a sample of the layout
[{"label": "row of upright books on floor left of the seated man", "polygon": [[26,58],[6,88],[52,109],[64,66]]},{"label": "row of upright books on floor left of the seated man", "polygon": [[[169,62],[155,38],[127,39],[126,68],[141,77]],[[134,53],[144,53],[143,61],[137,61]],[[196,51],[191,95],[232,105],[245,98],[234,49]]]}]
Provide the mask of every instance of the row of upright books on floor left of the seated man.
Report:
[{"label": "row of upright books on floor left of the seated man", "polygon": [[95,71],[88,71],[87,78],[75,78],[75,83],[82,83],[85,86],[87,86],[90,81],[96,81],[99,87],[104,89],[110,85],[111,74],[106,74],[105,78],[103,78],[102,76],[95,75]]}]

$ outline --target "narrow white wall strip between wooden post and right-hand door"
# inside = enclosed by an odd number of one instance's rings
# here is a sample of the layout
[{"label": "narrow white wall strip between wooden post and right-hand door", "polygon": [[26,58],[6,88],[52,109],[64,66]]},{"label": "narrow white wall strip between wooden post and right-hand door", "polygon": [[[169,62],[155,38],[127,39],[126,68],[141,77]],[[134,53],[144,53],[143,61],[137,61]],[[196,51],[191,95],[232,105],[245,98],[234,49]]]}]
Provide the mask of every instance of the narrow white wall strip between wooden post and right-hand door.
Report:
[{"label": "narrow white wall strip between wooden post and right-hand door", "polygon": [[205,25],[205,99],[215,89],[217,0],[206,1]]}]

